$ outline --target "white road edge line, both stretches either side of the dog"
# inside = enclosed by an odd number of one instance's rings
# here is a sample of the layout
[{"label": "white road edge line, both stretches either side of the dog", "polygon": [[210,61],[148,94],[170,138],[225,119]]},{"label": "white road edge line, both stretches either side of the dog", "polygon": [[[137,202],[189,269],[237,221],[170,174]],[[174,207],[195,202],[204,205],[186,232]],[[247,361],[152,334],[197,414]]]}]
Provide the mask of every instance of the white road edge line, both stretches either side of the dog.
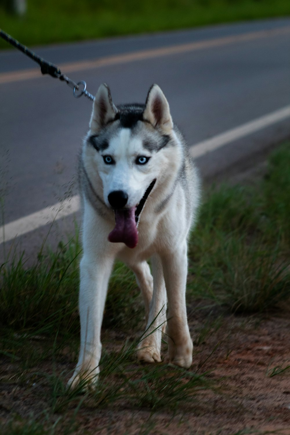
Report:
[{"label": "white road edge line, both stretches either side of the dog", "polygon": [[[229,144],[241,137],[247,136],[262,128],[269,127],[278,121],[282,121],[290,117],[290,105],[282,109],[275,110],[274,112],[257,118],[239,127],[226,131],[225,133],[218,134],[206,141],[202,141],[190,147],[192,157],[201,157],[210,151],[214,151],[223,145]],[[3,241],[10,241],[20,235],[26,234],[30,231],[41,228],[46,224],[52,223],[60,218],[69,216],[79,210],[80,198],[75,195],[69,199],[58,202],[51,207],[43,208],[40,211],[24,216],[16,221],[10,222],[5,227],[0,227],[0,244]],[[3,237],[3,235],[5,237]]]}]

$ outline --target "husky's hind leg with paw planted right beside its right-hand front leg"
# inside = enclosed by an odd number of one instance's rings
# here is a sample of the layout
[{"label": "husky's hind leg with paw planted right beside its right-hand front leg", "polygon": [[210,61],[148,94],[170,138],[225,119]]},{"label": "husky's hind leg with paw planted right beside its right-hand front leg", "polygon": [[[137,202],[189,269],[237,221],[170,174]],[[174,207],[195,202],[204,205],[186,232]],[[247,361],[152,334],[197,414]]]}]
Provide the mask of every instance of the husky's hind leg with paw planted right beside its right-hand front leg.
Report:
[{"label": "husky's hind leg with paw planted right beside its right-hand front leg", "polygon": [[137,358],[144,362],[160,362],[161,334],[166,324],[166,291],[162,264],[157,255],[152,257],[153,295],[144,338],[138,346]]}]

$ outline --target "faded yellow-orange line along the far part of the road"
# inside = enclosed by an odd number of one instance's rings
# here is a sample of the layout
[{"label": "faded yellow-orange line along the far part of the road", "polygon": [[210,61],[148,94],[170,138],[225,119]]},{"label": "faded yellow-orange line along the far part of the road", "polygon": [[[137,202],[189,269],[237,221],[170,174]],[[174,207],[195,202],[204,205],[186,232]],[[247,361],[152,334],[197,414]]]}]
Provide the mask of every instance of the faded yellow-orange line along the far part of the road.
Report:
[{"label": "faded yellow-orange line along the far part of the road", "polygon": [[[149,50],[134,51],[133,53],[117,54],[114,56],[100,57],[95,60],[82,60],[80,62],[70,62],[67,64],[58,65],[60,70],[65,73],[78,72],[83,70],[91,70],[99,67],[107,67],[110,65],[126,64],[136,60],[152,59],[154,57],[170,56],[173,54],[186,53],[205,48],[221,47],[231,43],[248,42],[260,38],[283,35],[290,33],[290,27],[280,29],[260,30],[257,32],[243,33],[241,35],[232,35],[221,38],[209,39],[198,42],[190,42],[170,47],[152,48]],[[12,83],[23,80],[30,80],[42,77],[39,68],[29,70],[11,71],[0,74],[0,84]]]}]

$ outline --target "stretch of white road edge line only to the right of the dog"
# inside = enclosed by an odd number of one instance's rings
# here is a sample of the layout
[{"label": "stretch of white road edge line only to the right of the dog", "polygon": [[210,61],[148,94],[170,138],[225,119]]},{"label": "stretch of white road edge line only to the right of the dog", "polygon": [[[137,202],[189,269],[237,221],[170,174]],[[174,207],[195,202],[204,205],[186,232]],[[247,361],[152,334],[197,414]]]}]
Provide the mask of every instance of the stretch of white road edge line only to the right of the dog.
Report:
[{"label": "stretch of white road edge line only to the right of the dog", "polygon": [[203,154],[214,151],[223,145],[236,141],[241,137],[247,136],[247,134],[254,133],[255,131],[261,130],[264,127],[268,127],[288,117],[290,117],[290,105],[193,145],[193,147],[190,148],[190,153],[194,158],[203,156]]}]

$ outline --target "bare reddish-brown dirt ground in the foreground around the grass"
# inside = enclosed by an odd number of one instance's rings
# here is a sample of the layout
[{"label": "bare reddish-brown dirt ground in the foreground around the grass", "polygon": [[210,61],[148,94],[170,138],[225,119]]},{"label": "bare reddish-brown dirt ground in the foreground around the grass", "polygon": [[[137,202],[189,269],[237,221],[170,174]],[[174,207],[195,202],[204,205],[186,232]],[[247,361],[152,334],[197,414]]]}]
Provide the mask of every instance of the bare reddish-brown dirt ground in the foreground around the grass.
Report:
[{"label": "bare reddish-brown dirt ground in the foreground around the grass", "polygon": [[[204,313],[189,313],[189,321],[193,337],[200,337]],[[129,409],[127,405],[108,409],[84,407],[77,415],[76,433],[290,435],[290,370],[270,377],[273,368],[290,364],[289,311],[277,310],[263,319],[257,315],[226,315],[221,322],[218,330],[214,326],[204,341],[195,345],[192,367],[193,371],[201,369],[201,365],[202,371],[209,370],[208,377],[215,383],[216,391],[205,389],[197,395],[194,405],[183,405],[175,415],[166,407],[156,413]],[[113,348],[112,341],[106,340],[103,346]],[[37,392],[41,386],[19,385],[17,379],[14,382],[11,378],[17,365],[3,360],[1,366],[3,381],[10,378],[0,388],[2,421],[15,413],[28,418],[46,407],[43,391],[41,395]],[[62,369],[60,365],[58,370]],[[43,370],[50,372],[51,365],[45,364]]]}]

